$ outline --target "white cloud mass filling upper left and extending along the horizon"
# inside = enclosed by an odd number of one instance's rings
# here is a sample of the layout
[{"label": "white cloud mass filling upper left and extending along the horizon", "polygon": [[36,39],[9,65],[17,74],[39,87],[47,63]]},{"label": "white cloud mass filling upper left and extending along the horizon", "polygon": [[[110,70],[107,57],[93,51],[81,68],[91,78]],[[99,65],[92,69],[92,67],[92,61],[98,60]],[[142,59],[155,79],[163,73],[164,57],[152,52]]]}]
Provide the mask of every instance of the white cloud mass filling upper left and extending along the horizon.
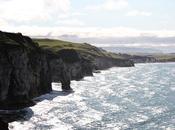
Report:
[{"label": "white cloud mass filling upper left and extending along the horizon", "polygon": [[[83,10],[81,8],[79,11],[73,8],[73,2],[75,1],[1,0],[0,29],[3,31],[22,32],[25,35],[30,36],[46,37],[48,34],[52,37],[57,37],[60,35],[76,35],[78,37],[101,38],[130,36],[175,36],[175,31],[173,30],[142,30],[122,25],[113,25],[113,27],[93,26],[88,24],[88,20],[85,20],[85,15],[87,15],[87,18],[90,17],[90,15],[93,15],[92,12],[89,12],[90,10],[97,12],[106,11],[108,13],[114,13],[122,10],[124,15],[123,17],[152,15],[151,12],[144,10],[139,11],[131,8],[129,0],[103,0],[96,5],[82,7],[83,9],[86,9]],[[81,18],[81,16],[84,17]],[[101,23],[99,23],[99,25],[100,24]]]}]

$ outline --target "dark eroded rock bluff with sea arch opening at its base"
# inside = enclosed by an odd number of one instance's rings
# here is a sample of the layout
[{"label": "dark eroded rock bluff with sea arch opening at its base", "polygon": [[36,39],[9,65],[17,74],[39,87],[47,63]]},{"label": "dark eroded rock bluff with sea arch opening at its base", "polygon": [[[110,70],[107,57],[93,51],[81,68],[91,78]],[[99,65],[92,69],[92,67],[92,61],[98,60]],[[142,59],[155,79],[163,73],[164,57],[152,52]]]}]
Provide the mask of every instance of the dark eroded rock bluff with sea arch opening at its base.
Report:
[{"label": "dark eroded rock bluff with sea arch opening at its base", "polygon": [[85,61],[75,50],[63,49],[50,61],[52,81],[61,82],[63,90],[71,90],[70,81],[92,75],[90,61]]}]

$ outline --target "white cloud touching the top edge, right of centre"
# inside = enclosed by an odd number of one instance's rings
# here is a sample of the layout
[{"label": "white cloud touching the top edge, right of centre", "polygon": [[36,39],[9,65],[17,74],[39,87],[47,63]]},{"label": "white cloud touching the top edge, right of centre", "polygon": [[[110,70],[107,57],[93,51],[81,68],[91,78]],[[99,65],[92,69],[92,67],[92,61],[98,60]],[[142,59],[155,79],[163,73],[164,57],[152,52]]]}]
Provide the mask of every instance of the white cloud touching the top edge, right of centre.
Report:
[{"label": "white cloud touching the top edge, right of centre", "polygon": [[127,6],[128,6],[127,0],[105,0],[105,2],[102,4],[87,6],[86,9],[95,11],[98,10],[112,11],[112,10],[121,10],[123,8],[126,8]]}]

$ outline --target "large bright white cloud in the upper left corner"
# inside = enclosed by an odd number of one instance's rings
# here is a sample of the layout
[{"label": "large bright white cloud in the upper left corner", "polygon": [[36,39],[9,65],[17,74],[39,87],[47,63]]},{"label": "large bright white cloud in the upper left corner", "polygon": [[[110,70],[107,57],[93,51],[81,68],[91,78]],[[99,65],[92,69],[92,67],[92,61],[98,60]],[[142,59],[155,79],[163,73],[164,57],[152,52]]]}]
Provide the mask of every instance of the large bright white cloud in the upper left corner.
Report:
[{"label": "large bright white cloud in the upper left corner", "polygon": [[70,0],[8,0],[0,4],[0,18],[14,22],[48,20],[70,9]]}]

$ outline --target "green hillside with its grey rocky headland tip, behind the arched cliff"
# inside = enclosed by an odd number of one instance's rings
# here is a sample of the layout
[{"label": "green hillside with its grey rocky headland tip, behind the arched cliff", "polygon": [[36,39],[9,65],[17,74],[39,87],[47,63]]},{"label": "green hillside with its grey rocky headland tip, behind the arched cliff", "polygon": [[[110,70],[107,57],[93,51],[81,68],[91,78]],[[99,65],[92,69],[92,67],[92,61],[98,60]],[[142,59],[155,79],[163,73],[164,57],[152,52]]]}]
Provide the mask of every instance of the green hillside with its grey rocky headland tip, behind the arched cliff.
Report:
[{"label": "green hillside with its grey rocky headland tip, behind the arched cliff", "polygon": [[[125,57],[107,52],[102,48],[92,46],[87,43],[73,43],[68,41],[53,40],[53,39],[33,39],[39,44],[42,49],[51,50],[54,53],[59,53],[62,49],[73,49],[84,59],[90,60],[96,66],[96,69],[106,69],[112,66],[134,66],[134,64]],[[99,60],[100,58],[100,60]],[[102,63],[103,60],[110,60],[109,64]],[[111,61],[113,63],[111,63]],[[101,63],[99,63],[101,62]],[[114,63],[115,62],[115,63]],[[98,66],[98,67],[97,67]]]}]

